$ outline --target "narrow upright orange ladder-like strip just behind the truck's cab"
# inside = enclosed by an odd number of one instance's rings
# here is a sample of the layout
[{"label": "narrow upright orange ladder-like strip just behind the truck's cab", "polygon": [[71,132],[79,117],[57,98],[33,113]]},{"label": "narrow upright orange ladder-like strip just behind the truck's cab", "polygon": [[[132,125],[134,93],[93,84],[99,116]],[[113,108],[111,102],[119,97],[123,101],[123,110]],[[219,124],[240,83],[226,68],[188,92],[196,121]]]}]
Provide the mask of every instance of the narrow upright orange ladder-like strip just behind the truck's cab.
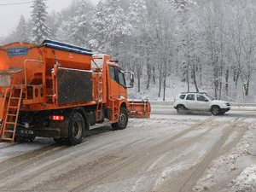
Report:
[{"label": "narrow upright orange ladder-like strip just behind the truck's cab", "polygon": [[99,73],[98,79],[96,80],[96,122],[102,120],[102,107],[103,107],[103,77],[102,73]]}]

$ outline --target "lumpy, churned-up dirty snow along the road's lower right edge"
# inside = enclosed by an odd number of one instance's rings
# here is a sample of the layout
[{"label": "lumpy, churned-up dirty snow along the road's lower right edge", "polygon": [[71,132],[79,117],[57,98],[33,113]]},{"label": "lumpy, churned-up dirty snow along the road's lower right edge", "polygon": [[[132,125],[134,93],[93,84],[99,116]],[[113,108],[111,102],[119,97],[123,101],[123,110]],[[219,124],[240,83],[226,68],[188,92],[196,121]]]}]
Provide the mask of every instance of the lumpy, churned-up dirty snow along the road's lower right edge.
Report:
[{"label": "lumpy, churned-up dirty snow along the road's lower right edge", "polygon": [[[255,158],[250,158],[250,154],[253,154],[256,152],[255,146],[253,146],[253,143],[256,137],[256,131],[255,131],[254,125],[247,125],[246,123],[241,124],[238,130],[241,130],[245,126],[247,126],[247,132],[241,138],[240,142],[237,143],[236,147],[232,148],[227,154],[221,155],[216,160],[212,161],[211,165],[207,169],[207,172],[196,183],[194,187],[194,191],[196,192],[207,191],[208,189],[213,189],[214,185],[218,185],[218,183],[221,183],[224,180],[229,180],[229,179],[232,180],[234,177],[236,177],[236,174],[239,174],[241,170],[243,170],[248,165],[253,163],[253,161],[255,161]],[[235,131],[232,135],[230,135],[229,139],[224,144],[224,148],[228,147],[231,141],[233,141],[238,134],[239,132]],[[255,167],[254,169],[250,167],[246,168],[246,170],[247,169],[249,171],[246,171],[246,172],[249,172],[250,175],[247,175],[247,177],[245,177],[246,174],[242,172],[241,176],[237,177],[235,180],[232,180],[229,186],[224,186],[227,188],[227,190],[224,190],[221,192],[255,191],[254,187],[256,186],[255,185],[256,179],[254,178],[256,177],[256,175],[255,175],[255,172],[252,171],[252,170],[255,171]],[[250,189],[250,190],[247,190],[247,189]],[[220,190],[216,190],[216,191],[220,192]]]}]

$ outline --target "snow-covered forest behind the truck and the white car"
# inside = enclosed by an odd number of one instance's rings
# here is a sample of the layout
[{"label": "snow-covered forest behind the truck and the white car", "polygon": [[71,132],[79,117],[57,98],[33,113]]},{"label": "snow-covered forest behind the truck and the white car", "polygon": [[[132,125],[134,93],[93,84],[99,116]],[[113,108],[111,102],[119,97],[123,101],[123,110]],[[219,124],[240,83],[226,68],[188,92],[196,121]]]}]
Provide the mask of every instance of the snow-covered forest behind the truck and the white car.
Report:
[{"label": "snow-covered forest behind the truck and the white car", "polygon": [[50,38],[112,55],[135,73],[134,92],[163,101],[175,79],[184,91],[256,102],[254,0],[74,0],[51,13],[33,0],[31,13],[0,44]]}]

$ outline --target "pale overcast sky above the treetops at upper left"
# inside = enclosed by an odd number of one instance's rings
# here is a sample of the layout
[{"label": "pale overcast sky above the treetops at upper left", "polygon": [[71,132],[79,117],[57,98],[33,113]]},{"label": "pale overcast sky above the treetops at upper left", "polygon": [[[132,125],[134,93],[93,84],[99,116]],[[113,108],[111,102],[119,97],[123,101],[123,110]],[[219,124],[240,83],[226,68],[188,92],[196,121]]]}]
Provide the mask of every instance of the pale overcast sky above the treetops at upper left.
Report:
[{"label": "pale overcast sky above the treetops at upper left", "polygon": [[[99,0],[90,0],[92,3],[97,3]],[[8,5],[3,6],[6,3],[24,3],[32,2],[32,0],[0,0],[0,37],[7,36],[18,25],[20,15],[24,15],[26,20],[30,17],[31,5],[20,4],[20,5]],[[73,0],[47,0],[48,13],[52,10],[60,11],[61,9],[67,8]]]}]

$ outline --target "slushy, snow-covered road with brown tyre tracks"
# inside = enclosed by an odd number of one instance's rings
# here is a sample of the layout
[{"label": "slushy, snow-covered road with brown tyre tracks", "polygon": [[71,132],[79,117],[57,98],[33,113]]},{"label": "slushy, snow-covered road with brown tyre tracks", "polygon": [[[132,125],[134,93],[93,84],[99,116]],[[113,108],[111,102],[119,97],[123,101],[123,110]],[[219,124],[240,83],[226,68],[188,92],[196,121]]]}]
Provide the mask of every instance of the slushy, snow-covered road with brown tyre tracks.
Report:
[{"label": "slushy, snow-covered road with brown tyre tracks", "polygon": [[256,190],[256,112],[177,115],[90,131],[84,143],[0,143],[1,191],[235,192]]}]

